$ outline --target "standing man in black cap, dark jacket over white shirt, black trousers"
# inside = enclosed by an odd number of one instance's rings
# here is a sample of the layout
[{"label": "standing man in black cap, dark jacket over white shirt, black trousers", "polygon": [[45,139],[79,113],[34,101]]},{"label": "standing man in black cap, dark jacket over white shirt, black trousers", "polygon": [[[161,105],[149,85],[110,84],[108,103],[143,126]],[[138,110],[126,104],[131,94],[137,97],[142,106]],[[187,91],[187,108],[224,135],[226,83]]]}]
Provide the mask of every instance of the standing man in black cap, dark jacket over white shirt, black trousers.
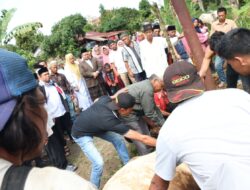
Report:
[{"label": "standing man in black cap, dark jacket over white shirt, black trousers", "polygon": [[60,169],[74,171],[77,168],[68,164],[65,157],[66,152],[64,151],[66,146],[64,130],[67,128],[71,130],[72,127],[66,96],[63,90],[50,80],[49,71],[46,67],[40,68],[37,74],[40,90],[46,99],[46,110],[55,122],[55,125],[52,127],[53,138],[49,139],[51,142],[48,143],[47,147],[50,161]]}]

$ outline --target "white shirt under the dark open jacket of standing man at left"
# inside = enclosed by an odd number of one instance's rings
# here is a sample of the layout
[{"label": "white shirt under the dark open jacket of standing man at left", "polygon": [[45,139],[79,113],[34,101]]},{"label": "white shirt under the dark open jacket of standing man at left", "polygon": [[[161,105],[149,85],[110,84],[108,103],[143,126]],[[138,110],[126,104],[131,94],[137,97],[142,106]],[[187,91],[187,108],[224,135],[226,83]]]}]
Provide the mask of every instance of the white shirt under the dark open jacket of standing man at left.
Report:
[{"label": "white shirt under the dark open jacket of standing man at left", "polygon": [[44,86],[46,92],[46,107],[48,115],[50,115],[51,118],[63,116],[66,113],[66,110],[62,104],[62,100],[56,90],[56,87],[51,84],[45,84],[43,81],[39,81],[39,84]]}]

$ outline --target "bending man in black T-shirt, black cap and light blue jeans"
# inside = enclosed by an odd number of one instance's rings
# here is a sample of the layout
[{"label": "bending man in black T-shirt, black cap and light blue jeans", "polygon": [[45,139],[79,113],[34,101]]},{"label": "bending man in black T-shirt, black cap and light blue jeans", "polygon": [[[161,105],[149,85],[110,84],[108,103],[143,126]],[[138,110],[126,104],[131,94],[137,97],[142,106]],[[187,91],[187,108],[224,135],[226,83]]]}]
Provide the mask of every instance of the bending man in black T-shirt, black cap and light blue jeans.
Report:
[{"label": "bending man in black T-shirt, black cap and light blue jeans", "polygon": [[123,91],[120,90],[111,97],[100,97],[90,108],[78,116],[72,128],[75,142],[92,162],[90,181],[98,188],[103,171],[103,159],[93,144],[93,137],[111,142],[123,164],[126,164],[130,158],[121,135],[150,146],[155,146],[156,143],[154,138],[129,129],[118,118],[118,116],[129,115],[135,103],[135,99],[127,93],[121,93]]}]

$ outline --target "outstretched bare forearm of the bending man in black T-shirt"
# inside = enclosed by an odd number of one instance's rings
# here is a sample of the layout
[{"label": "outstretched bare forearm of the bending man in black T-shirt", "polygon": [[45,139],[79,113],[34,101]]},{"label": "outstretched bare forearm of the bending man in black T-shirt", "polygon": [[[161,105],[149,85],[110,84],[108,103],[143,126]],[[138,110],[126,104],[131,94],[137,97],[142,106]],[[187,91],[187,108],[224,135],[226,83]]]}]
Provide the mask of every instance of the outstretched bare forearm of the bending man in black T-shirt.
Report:
[{"label": "outstretched bare forearm of the bending man in black T-shirt", "polygon": [[143,144],[149,145],[149,146],[155,146],[156,145],[156,139],[153,137],[150,137],[148,135],[142,135],[141,133],[138,133],[134,130],[129,130],[125,135],[125,137],[133,140],[137,140],[142,142]]}]

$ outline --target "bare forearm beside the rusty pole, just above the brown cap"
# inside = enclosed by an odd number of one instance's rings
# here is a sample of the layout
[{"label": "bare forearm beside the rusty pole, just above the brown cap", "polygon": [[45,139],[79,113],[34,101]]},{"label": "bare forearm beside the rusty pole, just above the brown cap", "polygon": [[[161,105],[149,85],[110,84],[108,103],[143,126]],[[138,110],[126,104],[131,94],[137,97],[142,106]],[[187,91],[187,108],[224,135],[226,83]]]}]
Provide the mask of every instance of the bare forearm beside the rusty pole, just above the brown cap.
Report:
[{"label": "bare forearm beside the rusty pole, just above the brown cap", "polygon": [[215,55],[214,51],[212,51],[210,49],[210,46],[208,46],[205,51],[205,56],[201,64],[200,71],[198,72],[201,78],[206,77],[206,72],[214,55]]}]

